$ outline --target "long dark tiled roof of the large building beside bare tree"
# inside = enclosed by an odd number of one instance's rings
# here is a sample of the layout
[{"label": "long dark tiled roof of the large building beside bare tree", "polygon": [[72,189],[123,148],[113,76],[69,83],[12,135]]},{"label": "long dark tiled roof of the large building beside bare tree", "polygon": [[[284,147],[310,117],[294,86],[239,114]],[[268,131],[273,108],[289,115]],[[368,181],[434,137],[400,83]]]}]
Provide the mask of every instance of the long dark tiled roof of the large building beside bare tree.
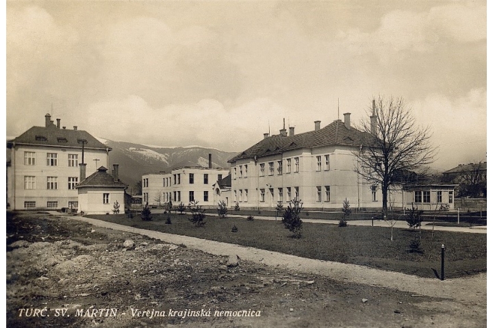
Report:
[{"label": "long dark tiled roof of the large building beside bare tree", "polygon": [[331,145],[346,145],[359,147],[370,144],[372,136],[354,127],[346,128],[341,120],[333,121],[323,129],[308,131],[294,136],[275,135],[257,142],[252,147],[234,156],[228,162],[242,158],[262,157],[289,151],[292,149],[314,148]]}]

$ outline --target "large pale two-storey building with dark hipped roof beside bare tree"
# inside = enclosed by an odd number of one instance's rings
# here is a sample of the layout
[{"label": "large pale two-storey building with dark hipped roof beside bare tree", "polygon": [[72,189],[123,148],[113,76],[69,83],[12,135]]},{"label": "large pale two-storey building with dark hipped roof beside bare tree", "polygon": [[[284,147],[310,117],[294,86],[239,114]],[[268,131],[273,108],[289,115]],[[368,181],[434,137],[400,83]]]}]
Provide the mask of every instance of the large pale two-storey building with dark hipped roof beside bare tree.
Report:
[{"label": "large pale two-storey building with dark hipped roof beside bare tree", "polygon": [[[239,153],[231,163],[231,201],[242,208],[285,207],[300,199],[312,210],[340,210],[347,199],[352,208],[381,207],[381,188],[357,174],[357,156],[370,135],[351,127],[350,113],[344,122],[333,121],[303,134],[290,127],[268,136]],[[402,203],[401,203],[402,205]]]}]

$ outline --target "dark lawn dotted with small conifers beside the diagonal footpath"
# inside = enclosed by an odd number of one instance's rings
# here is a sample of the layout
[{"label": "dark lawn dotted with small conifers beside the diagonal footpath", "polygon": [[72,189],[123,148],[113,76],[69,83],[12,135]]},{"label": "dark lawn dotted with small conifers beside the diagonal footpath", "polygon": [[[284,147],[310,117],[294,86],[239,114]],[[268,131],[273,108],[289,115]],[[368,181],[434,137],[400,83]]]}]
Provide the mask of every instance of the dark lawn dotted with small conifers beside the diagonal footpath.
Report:
[{"label": "dark lawn dotted with small conifers beside the diagonal footpath", "polygon": [[[170,225],[166,218],[171,219]],[[246,218],[218,218],[207,216],[205,227],[194,227],[188,220],[190,214],[153,214],[153,220],[142,221],[140,216],[128,218],[121,215],[90,216],[131,227],[162,231],[168,234],[192,236],[219,242],[240,244],[269,251],[397,271],[420,277],[435,277],[433,269],[440,272],[441,245],[446,247],[446,277],[462,277],[486,271],[486,235],[421,231],[422,253],[410,252],[409,244],[419,233],[411,229],[338,227],[318,223],[303,223],[302,238],[291,238],[280,221],[247,220]],[[238,232],[232,232],[235,225]]]}]

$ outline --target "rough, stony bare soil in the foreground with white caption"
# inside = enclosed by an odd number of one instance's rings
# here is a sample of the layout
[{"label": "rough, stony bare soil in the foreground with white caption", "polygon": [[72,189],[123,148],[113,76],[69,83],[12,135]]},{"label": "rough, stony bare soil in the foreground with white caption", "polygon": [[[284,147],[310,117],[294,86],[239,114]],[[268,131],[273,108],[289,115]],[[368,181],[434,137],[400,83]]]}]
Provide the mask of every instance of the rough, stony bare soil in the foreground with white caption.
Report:
[{"label": "rough, stony bare soil in the foreground with white caption", "polygon": [[[486,326],[485,292],[466,279],[460,297],[431,297],[241,259],[228,266],[228,257],[42,213],[8,213],[7,245],[8,327]],[[45,308],[49,316],[22,310]],[[220,315],[242,310],[260,316]]]}]

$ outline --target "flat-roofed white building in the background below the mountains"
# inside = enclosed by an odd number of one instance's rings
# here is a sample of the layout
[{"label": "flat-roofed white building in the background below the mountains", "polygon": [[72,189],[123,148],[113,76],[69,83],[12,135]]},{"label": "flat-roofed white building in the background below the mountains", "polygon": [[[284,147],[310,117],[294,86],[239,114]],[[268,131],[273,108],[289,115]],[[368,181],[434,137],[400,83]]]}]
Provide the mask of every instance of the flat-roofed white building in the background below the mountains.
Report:
[{"label": "flat-roofed white building in the background below the mountains", "polygon": [[171,201],[177,205],[199,201],[205,207],[215,206],[212,186],[228,174],[226,168],[184,166],[169,173],[142,175],[142,203],[164,205]]}]

